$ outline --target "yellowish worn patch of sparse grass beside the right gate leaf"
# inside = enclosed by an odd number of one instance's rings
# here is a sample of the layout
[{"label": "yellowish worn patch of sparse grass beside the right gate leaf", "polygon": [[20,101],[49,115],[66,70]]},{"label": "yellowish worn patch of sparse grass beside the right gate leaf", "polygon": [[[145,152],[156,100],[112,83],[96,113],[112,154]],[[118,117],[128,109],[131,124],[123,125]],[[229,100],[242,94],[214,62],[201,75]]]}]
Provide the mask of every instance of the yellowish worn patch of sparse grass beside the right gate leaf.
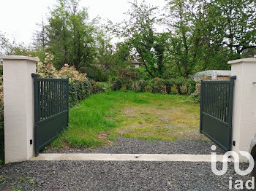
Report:
[{"label": "yellowish worn patch of sparse grass beside the right gate leaf", "polygon": [[[170,103],[171,104],[171,103]],[[159,104],[158,104],[159,105]],[[206,140],[199,133],[198,108],[186,104],[178,107],[167,106],[159,109],[154,105],[128,107],[122,110],[120,128],[115,130],[120,136],[160,140]]]}]

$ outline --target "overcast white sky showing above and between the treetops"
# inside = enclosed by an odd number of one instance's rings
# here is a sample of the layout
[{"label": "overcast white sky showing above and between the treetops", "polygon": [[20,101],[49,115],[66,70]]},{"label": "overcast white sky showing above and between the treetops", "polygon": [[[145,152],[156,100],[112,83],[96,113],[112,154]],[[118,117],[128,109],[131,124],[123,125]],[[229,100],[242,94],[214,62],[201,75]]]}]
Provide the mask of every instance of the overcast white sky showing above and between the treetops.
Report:
[{"label": "overcast white sky showing above and between the treetops", "polygon": [[[165,0],[146,2],[161,8],[165,6]],[[53,7],[53,4],[56,0],[1,0],[0,31],[16,42],[29,44],[37,28],[36,23],[47,17],[48,7]],[[88,7],[91,18],[99,15],[116,23],[124,19],[123,13],[127,12],[129,3],[128,0],[80,0],[80,7]]]}]

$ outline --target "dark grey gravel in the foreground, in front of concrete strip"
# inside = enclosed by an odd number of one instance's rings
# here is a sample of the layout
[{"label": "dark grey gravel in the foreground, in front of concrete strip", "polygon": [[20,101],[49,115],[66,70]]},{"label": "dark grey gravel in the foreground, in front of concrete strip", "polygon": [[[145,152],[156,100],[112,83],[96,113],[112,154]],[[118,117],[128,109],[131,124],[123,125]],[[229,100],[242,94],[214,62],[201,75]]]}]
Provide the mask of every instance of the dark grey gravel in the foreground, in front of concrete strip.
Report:
[{"label": "dark grey gravel in the foreground, in front of concrete strip", "polygon": [[236,175],[233,163],[216,176],[211,163],[184,162],[27,161],[0,166],[0,175],[0,190],[220,191],[228,190],[230,176],[249,179]]}]

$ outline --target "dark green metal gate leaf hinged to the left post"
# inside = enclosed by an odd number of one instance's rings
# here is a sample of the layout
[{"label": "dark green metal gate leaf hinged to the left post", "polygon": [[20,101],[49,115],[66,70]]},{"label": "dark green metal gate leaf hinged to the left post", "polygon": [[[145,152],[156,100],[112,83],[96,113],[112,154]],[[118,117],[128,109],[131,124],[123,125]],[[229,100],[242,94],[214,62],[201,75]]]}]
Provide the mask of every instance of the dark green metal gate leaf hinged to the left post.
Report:
[{"label": "dark green metal gate leaf hinged to the left post", "polygon": [[34,145],[40,149],[59,136],[69,122],[69,79],[34,77]]}]

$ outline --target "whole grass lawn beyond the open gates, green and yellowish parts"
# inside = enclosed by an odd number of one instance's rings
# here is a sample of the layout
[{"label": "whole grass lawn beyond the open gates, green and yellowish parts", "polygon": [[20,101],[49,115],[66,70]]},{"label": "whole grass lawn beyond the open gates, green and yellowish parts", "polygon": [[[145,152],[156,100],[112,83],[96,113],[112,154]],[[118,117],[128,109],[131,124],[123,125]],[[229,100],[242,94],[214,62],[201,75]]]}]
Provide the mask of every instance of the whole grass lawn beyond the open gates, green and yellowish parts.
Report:
[{"label": "whole grass lawn beyond the open gates, green and yellowish parts", "polygon": [[50,147],[98,147],[116,136],[147,140],[205,139],[200,105],[188,95],[108,92],[69,110],[69,128]]}]

